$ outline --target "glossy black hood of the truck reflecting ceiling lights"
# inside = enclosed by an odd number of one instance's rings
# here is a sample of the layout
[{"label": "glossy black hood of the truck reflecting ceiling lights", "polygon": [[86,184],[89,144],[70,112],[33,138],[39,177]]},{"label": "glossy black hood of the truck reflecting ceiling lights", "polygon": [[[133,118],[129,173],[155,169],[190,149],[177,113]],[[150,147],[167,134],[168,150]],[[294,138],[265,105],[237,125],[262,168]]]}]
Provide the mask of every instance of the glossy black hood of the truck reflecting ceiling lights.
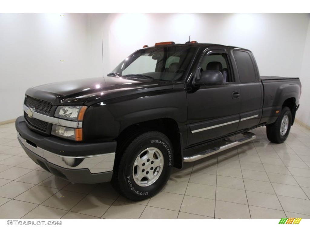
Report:
[{"label": "glossy black hood of the truck reflecting ceiling lights", "polygon": [[171,82],[108,76],[39,85],[29,88],[26,95],[53,105],[92,105],[119,97],[143,97],[150,92],[171,88]]}]

